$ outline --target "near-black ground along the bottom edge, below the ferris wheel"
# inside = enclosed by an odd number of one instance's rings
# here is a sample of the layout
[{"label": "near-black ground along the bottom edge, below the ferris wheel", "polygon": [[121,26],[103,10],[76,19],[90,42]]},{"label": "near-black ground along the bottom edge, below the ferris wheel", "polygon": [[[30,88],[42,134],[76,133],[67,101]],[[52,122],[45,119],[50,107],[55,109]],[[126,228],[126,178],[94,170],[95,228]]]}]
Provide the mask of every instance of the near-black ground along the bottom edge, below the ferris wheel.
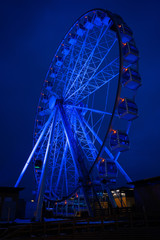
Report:
[{"label": "near-black ground along the bottom edge, below the ferris wheel", "polygon": [[160,239],[160,217],[125,216],[56,219],[41,223],[1,223],[0,239]]}]

